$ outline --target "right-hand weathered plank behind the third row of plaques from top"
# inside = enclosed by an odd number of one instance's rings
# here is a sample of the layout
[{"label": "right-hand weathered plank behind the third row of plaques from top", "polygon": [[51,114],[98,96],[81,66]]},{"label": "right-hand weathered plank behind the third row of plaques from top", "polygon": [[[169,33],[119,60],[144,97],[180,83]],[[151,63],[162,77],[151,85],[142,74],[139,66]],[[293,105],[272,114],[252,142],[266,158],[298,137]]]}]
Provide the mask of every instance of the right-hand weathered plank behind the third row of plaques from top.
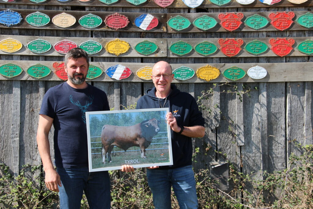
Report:
[{"label": "right-hand weathered plank behind the third row of plaques from top", "polygon": [[[279,37],[279,38],[285,38],[286,36],[284,37]],[[223,38],[224,40],[226,38]],[[238,53],[238,55],[235,55],[234,58],[236,57],[249,57],[249,59],[253,59],[253,58],[258,58],[258,57],[277,57],[279,58],[278,55],[276,55],[270,48],[271,48],[271,45],[269,44],[269,40],[270,39],[277,39],[276,37],[269,37],[269,38],[235,38],[236,40],[237,39],[242,39],[244,41],[244,44],[241,45],[241,51]],[[287,37],[286,39],[290,39],[289,37]],[[285,55],[285,57],[290,57],[290,56],[302,56],[302,57],[307,57],[306,54],[300,52],[298,49],[295,49],[296,46],[302,42],[302,41],[305,41],[307,39],[311,39],[313,40],[313,37],[292,37],[292,39],[295,40],[295,44],[293,45],[293,48],[294,50],[292,50],[288,55]],[[213,53],[212,55],[208,55],[207,57],[224,57],[224,58],[228,58],[228,56],[224,55],[223,52],[221,50],[219,50],[219,48],[221,47],[220,44],[218,44],[218,40],[219,38],[197,38],[197,39],[167,39],[167,46],[168,48],[173,44],[173,43],[176,43],[178,41],[184,41],[188,44],[190,44],[193,48],[203,42],[203,41],[208,41],[208,42],[211,42],[212,44],[214,44],[218,50]],[[267,46],[268,46],[268,49],[266,50],[266,52],[262,53],[262,54],[259,54],[259,55],[254,55],[254,54],[250,54],[248,51],[246,51],[244,49],[245,45],[248,44],[249,42],[251,41],[254,41],[254,40],[258,40],[258,41],[262,41],[263,43],[265,43]],[[171,58],[190,58],[190,57],[206,57],[204,55],[200,55],[198,54],[194,49],[186,54],[186,55],[176,55],[174,53],[172,53],[170,50],[167,50],[167,57],[171,57]],[[252,61],[253,62],[253,61]]]}]

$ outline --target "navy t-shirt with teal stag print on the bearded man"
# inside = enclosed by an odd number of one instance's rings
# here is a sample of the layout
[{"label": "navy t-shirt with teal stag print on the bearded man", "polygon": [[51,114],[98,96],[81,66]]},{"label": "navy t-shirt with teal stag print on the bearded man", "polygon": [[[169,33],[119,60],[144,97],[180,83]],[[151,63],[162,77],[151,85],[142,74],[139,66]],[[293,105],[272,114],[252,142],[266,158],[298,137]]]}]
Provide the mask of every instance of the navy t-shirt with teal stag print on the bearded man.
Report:
[{"label": "navy t-shirt with teal stag print on the bearded man", "polygon": [[46,92],[39,114],[54,118],[57,167],[88,167],[85,112],[103,110],[110,110],[105,92],[89,84],[75,89],[64,82]]}]

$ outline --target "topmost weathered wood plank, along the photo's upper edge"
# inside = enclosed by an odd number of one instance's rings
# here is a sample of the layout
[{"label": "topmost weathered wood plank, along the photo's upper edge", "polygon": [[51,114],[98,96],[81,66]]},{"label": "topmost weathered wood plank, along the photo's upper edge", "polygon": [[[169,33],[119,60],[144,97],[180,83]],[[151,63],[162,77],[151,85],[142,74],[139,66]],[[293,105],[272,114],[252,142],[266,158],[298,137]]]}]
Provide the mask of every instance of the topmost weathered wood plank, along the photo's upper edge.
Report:
[{"label": "topmost weathered wood plank, along the photo's upper edge", "polygon": [[[14,5],[14,4],[34,4],[37,5],[36,3],[32,3],[28,0],[20,0],[20,1],[13,1],[11,3],[4,3],[1,2],[0,4],[6,4],[6,5]],[[113,3],[113,4],[105,4],[105,3],[101,3],[100,1],[97,0],[91,0],[88,2],[80,2],[80,1],[69,1],[69,2],[59,2],[56,0],[52,0],[52,1],[47,1],[44,3],[38,3],[38,5],[59,5],[59,6],[63,6],[63,5],[67,5],[67,6],[85,6],[85,7],[110,7],[110,8],[114,8],[114,7],[142,7],[142,8],[160,8],[155,2],[153,1],[147,1],[145,3],[142,3],[138,6],[135,6],[131,3],[128,3],[124,0],[120,0],[117,3]],[[292,4],[288,1],[281,1],[279,3],[275,3],[274,5],[275,7],[295,7],[297,5]],[[313,3],[311,1],[307,1],[305,3],[300,4],[300,6],[313,6]],[[247,5],[242,5],[239,4],[236,1],[231,1],[230,3],[226,4],[226,5],[222,5],[222,6],[218,6],[215,5],[213,3],[211,3],[209,0],[204,0],[203,3],[198,7],[198,8],[238,8],[238,7],[243,7],[243,8],[250,8],[250,7],[273,7],[273,5],[268,5],[268,4],[263,4],[259,1],[254,1],[251,4],[247,4]],[[170,6],[168,6],[167,8],[189,8],[187,7],[182,1],[174,1]],[[162,9],[162,8],[161,8]]]}]

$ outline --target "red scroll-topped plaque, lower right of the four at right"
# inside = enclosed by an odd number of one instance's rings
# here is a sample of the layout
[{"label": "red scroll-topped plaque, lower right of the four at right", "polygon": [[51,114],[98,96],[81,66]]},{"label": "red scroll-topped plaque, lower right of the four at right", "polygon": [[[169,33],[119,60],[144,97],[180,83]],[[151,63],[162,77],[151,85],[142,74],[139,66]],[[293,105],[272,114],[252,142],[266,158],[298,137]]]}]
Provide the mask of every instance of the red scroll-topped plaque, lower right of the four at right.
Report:
[{"label": "red scroll-topped plaque, lower right of the four at right", "polygon": [[288,55],[292,50],[292,45],[295,43],[294,39],[277,38],[270,39],[269,43],[272,45],[271,50],[278,56],[283,57]]}]

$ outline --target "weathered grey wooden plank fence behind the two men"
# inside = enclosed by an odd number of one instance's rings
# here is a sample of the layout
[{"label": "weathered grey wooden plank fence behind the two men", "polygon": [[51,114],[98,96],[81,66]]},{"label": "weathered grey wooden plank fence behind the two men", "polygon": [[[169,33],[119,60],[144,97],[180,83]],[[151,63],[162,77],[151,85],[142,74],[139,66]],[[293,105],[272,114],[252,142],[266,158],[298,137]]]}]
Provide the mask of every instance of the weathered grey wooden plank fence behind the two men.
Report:
[{"label": "weathered grey wooden plank fence behind the two men", "polygon": [[[165,60],[172,64],[173,69],[182,65],[195,71],[205,65],[212,65],[223,71],[233,65],[247,71],[250,67],[259,65],[268,71],[267,77],[261,80],[245,76],[239,81],[230,81],[220,75],[212,81],[204,81],[194,76],[186,81],[174,79],[174,83],[181,91],[192,94],[196,99],[201,96],[201,91],[213,88],[214,94],[204,101],[211,107],[212,112],[204,111],[206,119],[206,134],[203,138],[194,138],[194,150],[199,148],[193,163],[195,171],[209,169],[210,162],[229,160],[236,169],[244,174],[258,171],[275,171],[286,168],[288,157],[291,153],[300,154],[292,140],[302,145],[312,144],[312,81],[313,65],[312,56],[299,52],[296,49],[283,57],[275,55],[270,49],[261,55],[252,55],[242,50],[239,55],[228,57],[221,51],[210,56],[202,56],[194,51],[191,54],[177,56],[168,50],[172,42],[178,40],[189,41],[191,45],[207,40],[217,44],[219,38],[240,38],[244,43],[254,39],[268,43],[273,38],[293,38],[296,43],[306,39],[312,40],[312,28],[299,26],[295,23],[290,29],[279,31],[270,24],[261,30],[250,29],[244,24],[237,30],[229,32],[221,26],[208,31],[195,27],[182,31],[175,31],[168,27],[166,21],[178,14],[193,20],[202,16],[202,13],[243,12],[245,17],[255,13],[267,16],[269,12],[293,11],[296,14],[305,14],[313,9],[313,2],[292,4],[287,0],[274,5],[267,5],[255,0],[251,5],[241,5],[233,0],[223,6],[217,6],[205,0],[198,8],[188,8],[180,0],[167,8],[160,8],[153,1],[143,5],[134,6],[125,0],[120,0],[113,5],[106,5],[98,0],[83,3],[77,0],[58,2],[56,0],[44,3],[32,3],[28,0],[15,0],[11,3],[0,3],[2,10],[12,9],[25,16],[41,11],[49,14],[50,18],[56,14],[71,13],[76,19],[88,13],[109,15],[119,12],[132,18],[131,26],[122,30],[113,30],[101,26],[97,29],[85,29],[78,23],[70,28],[59,28],[51,22],[43,27],[33,27],[22,20],[20,24],[7,27],[0,24],[0,39],[14,38],[23,43],[23,48],[14,53],[0,51],[0,65],[14,63],[22,67],[23,72],[17,77],[8,78],[0,75],[0,162],[7,164],[12,172],[17,175],[24,164],[38,165],[41,163],[36,144],[36,131],[38,126],[38,112],[44,93],[52,86],[64,81],[60,80],[53,72],[42,79],[35,79],[26,73],[29,66],[40,63],[51,69],[54,62],[63,61],[63,55],[51,49],[44,54],[30,52],[25,46],[32,40],[41,38],[49,40],[52,44],[69,39],[74,42],[84,42],[89,39],[96,40],[103,45],[115,38],[126,40],[131,47],[141,40],[151,40],[159,44],[156,54],[140,55],[131,48],[124,55],[112,55],[105,50],[90,57],[91,64],[99,66],[105,71],[108,66],[123,64],[128,66],[133,74],[127,79],[116,81],[106,76],[89,80],[88,82],[104,90],[109,99],[110,107],[115,110],[135,104],[144,94],[146,89],[153,87],[152,81],[138,78],[135,74],[144,66]],[[0,9],[1,10],[1,9]],[[152,31],[142,31],[136,28],[133,18],[142,13],[153,13],[160,17],[159,26]],[[216,18],[218,20],[218,18]],[[243,19],[244,21],[244,19]],[[192,26],[191,26],[192,27]],[[162,40],[162,44],[161,44]],[[77,44],[79,44],[77,43]],[[243,48],[243,46],[242,46]],[[233,91],[238,86],[239,91],[251,90],[242,95],[242,102]],[[214,85],[217,83],[217,85]],[[52,133],[52,131],[51,131]],[[49,135],[52,139],[52,135]],[[52,140],[51,140],[52,141]],[[51,144],[52,145],[52,144]],[[51,153],[53,153],[53,146]],[[210,149],[206,149],[211,147]],[[218,151],[218,152],[216,152]],[[29,174],[30,175],[30,174]],[[258,172],[256,179],[261,179]],[[251,185],[246,185],[251,187]],[[232,190],[229,185],[228,191]],[[253,190],[253,188],[248,188]]]}]

